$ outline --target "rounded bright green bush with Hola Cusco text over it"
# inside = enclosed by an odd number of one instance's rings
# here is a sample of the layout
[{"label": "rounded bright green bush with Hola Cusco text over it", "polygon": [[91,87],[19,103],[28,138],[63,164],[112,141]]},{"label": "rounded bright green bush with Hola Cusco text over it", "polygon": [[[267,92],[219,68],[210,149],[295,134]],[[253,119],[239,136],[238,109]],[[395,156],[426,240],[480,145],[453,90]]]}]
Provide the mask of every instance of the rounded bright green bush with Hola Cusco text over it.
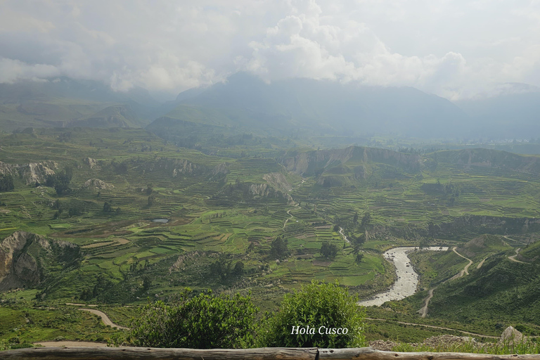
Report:
[{"label": "rounded bright green bush with Hola Cusco text over it", "polygon": [[259,346],[364,346],[365,312],[356,305],[357,301],[357,297],[349,295],[338,283],[312,281],[293,295],[285,295],[280,310],[264,321]]}]

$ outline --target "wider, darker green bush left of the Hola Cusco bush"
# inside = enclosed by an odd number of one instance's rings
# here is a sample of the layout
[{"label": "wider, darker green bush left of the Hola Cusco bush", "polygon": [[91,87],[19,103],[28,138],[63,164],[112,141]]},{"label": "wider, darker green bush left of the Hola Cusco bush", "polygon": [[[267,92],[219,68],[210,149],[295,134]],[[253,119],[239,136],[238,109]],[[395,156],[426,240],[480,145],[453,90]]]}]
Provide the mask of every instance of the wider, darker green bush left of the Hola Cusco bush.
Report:
[{"label": "wider, darker green bush left of the Hola Cusco bush", "polygon": [[134,321],[131,338],[135,346],[192,349],[252,346],[258,309],[250,296],[219,295],[209,290],[189,298],[186,290],[170,305],[147,304]]}]

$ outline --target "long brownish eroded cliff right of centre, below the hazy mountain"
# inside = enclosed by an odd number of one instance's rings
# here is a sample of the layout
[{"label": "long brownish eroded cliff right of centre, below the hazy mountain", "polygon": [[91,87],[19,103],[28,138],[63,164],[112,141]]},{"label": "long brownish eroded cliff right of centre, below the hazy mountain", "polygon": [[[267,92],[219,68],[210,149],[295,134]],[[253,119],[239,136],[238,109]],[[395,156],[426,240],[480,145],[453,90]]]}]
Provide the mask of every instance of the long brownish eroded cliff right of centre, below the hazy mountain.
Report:
[{"label": "long brownish eroded cliff right of centre, below the hazy mountain", "polygon": [[[310,175],[328,167],[338,165],[356,165],[369,162],[380,162],[386,165],[399,167],[406,172],[418,172],[422,162],[418,155],[398,153],[392,150],[378,148],[364,148],[359,146],[349,146],[345,149],[335,150],[312,150],[305,153],[285,154],[279,160],[286,169],[297,174]],[[358,171],[360,177],[364,176],[365,169],[360,167]]]}]

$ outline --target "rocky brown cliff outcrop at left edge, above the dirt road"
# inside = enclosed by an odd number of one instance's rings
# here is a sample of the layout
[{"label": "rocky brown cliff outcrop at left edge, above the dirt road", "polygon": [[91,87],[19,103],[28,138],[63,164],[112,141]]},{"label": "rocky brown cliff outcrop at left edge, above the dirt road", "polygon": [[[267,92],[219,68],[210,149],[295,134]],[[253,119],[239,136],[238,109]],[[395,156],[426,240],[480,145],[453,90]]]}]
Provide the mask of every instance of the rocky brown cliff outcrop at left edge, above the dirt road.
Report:
[{"label": "rocky brown cliff outcrop at left edge, above the dirt road", "polygon": [[16,231],[0,243],[0,291],[38,285],[46,280],[49,266],[71,264],[79,257],[75,244]]}]

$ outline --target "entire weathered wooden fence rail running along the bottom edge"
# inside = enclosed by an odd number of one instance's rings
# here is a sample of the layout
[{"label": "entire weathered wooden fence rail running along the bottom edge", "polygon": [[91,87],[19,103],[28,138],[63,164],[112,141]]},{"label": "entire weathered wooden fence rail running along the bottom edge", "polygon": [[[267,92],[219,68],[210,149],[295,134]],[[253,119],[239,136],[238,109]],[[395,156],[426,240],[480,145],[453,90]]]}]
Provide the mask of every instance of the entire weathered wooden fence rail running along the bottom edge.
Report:
[{"label": "entire weathered wooden fence rail running along the bottom edge", "polygon": [[157,349],[150,347],[34,347],[0,352],[6,360],[540,360],[540,354],[490,355],[457,352],[383,352],[371,347],[317,349]]}]

